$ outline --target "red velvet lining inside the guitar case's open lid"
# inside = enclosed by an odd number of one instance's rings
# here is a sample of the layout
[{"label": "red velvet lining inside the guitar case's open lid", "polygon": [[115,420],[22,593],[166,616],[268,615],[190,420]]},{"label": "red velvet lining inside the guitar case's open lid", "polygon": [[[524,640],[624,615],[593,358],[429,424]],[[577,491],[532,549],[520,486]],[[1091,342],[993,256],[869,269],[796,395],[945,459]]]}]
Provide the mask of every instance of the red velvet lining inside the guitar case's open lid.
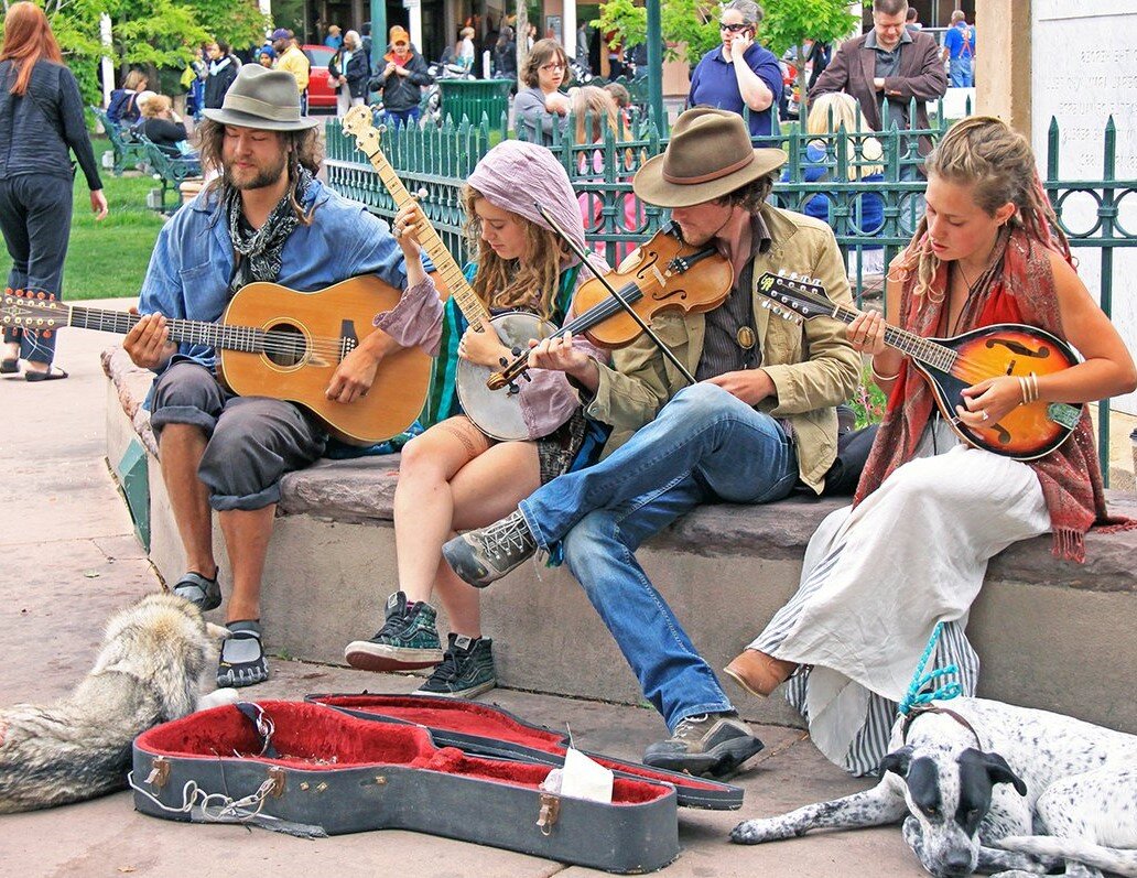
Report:
[{"label": "red velvet lining inside the guitar case's open lid", "polygon": [[[505,740],[511,744],[520,744],[562,756],[565,754],[563,735],[543,729],[534,729],[531,726],[516,722],[478,702],[454,701],[447,702],[440,707],[428,707],[423,705],[423,698],[407,698],[404,701],[398,696],[391,695],[383,695],[379,698],[370,695],[331,695],[318,698],[319,704],[327,704],[333,707],[343,707],[358,711],[359,713],[373,713],[376,717],[391,717],[404,722],[413,722],[433,729],[448,729],[450,731],[459,731],[464,735],[478,735],[483,738]],[[629,763],[607,760],[595,753],[589,754],[589,756],[607,769],[628,771],[630,768]],[[674,775],[655,772],[648,765],[636,764],[634,770],[637,775],[642,775],[645,778],[652,780],[659,780],[666,784],[675,782]],[[715,784],[705,784],[695,777],[684,776],[682,780],[683,786],[690,789],[719,790],[722,788]]]}]

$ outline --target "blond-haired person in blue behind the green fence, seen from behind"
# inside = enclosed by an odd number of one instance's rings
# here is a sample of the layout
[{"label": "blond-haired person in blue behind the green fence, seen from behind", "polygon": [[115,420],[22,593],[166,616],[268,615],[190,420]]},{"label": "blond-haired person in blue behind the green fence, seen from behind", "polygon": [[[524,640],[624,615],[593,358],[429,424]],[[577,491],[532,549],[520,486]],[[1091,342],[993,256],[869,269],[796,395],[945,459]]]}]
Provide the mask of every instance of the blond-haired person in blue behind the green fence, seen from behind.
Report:
[{"label": "blond-haired person in blue behind the green fence, seen from behind", "polygon": [[[882,150],[880,141],[873,136],[846,136],[845,155],[847,165],[837,167],[837,139],[822,136],[837,134],[844,129],[847,135],[865,131],[861,105],[856,99],[843,91],[822,94],[810,107],[810,116],[805,123],[806,133],[814,139],[805,147],[803,161],[804,181],[806,183],[835,180],[840,175],[843,182],[877,183],[885,179],[881,165]],[[844,171],[844,173],[841,173]],[[788,180],[788,175],[782,176]],[[806,201],[803,213],[824,223],[833,225],[832,206],[840,196],[819,192]],[[879,235],[885,227],[885,201],[875,192],[864,192],[857,196],[853,213],[853,233],[861,237]],[[860,258],[858,258],[860,257]],[[862,247],[860,251],[849,250],[848,271],[857,276],[863,274],[883,274],[885,248],[881,245]]]}]

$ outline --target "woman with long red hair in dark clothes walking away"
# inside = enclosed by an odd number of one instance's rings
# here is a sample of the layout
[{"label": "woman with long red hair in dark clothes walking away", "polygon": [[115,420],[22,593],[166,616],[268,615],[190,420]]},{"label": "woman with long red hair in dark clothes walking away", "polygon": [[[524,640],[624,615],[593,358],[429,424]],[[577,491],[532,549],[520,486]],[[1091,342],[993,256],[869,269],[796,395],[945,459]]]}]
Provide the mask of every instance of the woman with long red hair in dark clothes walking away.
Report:
[{"label": "woman with long red hair in dark clothes walking away", "polygon": [[[0,119],[0,232],[13,263],[8,285],[59,298],[75,176],[70,151],[86,177],[96,220],[107,215],[107,199],[78,84],[43,10],[33,3],[13,3],[3,19]],[[52,332],[5,330],[3,340],[0,373],[18,372],[23,359],[27,381],[67,376],[51,368]]]}]

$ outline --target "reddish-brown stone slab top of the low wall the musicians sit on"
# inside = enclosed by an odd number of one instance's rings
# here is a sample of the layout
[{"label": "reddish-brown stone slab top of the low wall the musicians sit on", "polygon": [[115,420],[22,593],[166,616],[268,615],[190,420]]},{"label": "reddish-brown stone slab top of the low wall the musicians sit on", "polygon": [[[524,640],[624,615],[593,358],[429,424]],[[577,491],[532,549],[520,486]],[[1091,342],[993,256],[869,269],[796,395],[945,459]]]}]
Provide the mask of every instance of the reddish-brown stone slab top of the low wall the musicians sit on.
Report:
[{"label": "reddish-brown stone slab top of the low wall the musicians sit on", "polygon": [[[106,350],[102,363],[117,388],[123,411],[147,450],[157,455],[149,413],[142,408],[151,374],[134,366],[122,348]],[[398,466],[398,455],[319,461],[284,477],[277,515],[310,515],[351,524],[390,522]],[[1137,517],[1137,496],[1121,491],[1107,491],[1106,496],[1113,514]],[[821,520],[847,502],[847,498],[803,495],[769,506],[703,506],[666,528],[648,545],[700,557],[756,555],[772,561],[799,561]],[[1090,531],[1085,564],[1055,558],[1051,554],[1051,537],[1045,536],[1011,546],[994,557],[988,579],[1134,593],[1137,591],[1134,557],[1137,557],[1137,531]]]}]

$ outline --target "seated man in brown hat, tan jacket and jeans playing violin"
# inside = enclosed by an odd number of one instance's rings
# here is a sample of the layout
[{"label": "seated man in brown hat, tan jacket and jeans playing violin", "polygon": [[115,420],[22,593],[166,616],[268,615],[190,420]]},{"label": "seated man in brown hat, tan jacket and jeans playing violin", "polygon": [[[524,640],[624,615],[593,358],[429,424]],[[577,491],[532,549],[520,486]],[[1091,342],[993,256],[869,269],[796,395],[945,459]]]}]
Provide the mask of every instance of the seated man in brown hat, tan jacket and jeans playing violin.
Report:
[{"label": "seated man in brown hat, tan jacket and jeans playing violin", "polygon": [[762,743],[633,553],[698,504],[770,503],[802,484],[820,494],[837,448],[835,406],[860,375],[843,326],[770,320],[760,307],[757,280],[778,270],[815,278],[835,301],[850,301],[829,226],[766,204],[785,161],[780,149],[753,149],[737,114],[696,108],[679,117],[666,151],[633,187],[671,208],[687,243],[713,245],[735,266],[735,287],[717,308],[655,321],[698,383],[688,386],[645,338],[615,351],[612,367],[564,339],[537,345],[530,364],[566,372],[586,414],[612,425],[608,456],[443,549],[459,577],[487,586],[538,548],[563,548],[672,732],[644,761],[694,775],[728,773]]}]

